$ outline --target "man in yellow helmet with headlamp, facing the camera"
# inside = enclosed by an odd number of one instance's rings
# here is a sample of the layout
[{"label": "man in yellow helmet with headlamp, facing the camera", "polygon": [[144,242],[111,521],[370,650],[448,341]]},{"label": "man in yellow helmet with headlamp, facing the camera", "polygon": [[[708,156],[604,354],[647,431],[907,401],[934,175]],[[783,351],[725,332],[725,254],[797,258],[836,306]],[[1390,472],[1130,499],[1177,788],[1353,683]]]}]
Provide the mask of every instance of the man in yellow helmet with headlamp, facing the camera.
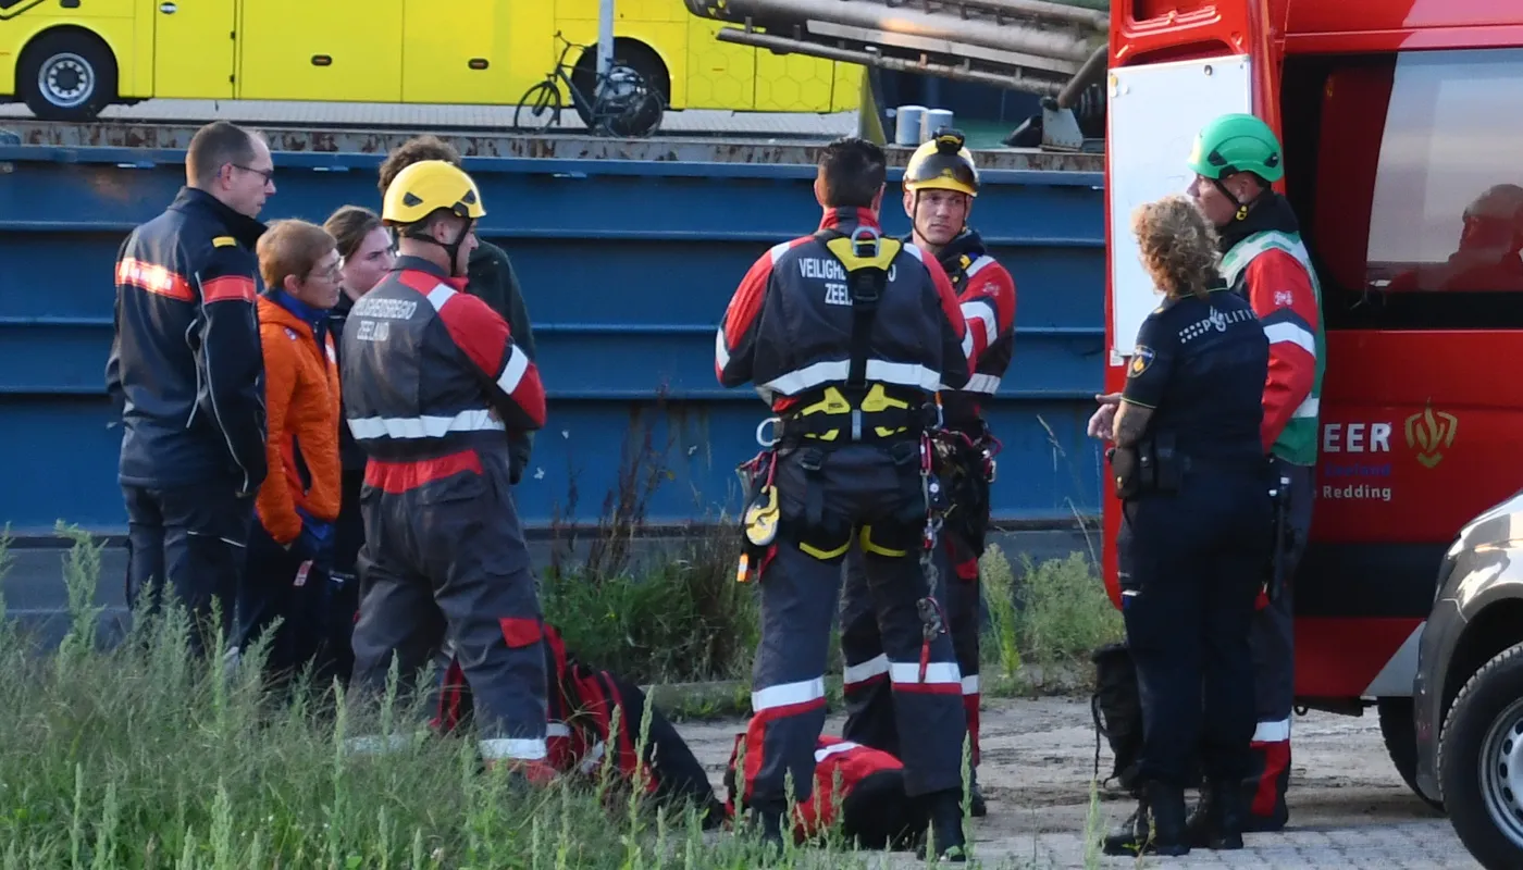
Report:
[{"label": "man in yellow helmet with headlamp, facing the camera", "polygon": [[[963,673],[963,710],[967,715],[972,753],[972,814],[984,815],[976,769],[979,707],[979,582],[978,558],[988,529],[988,485],[995,478],[998,442],[984,421],[984,402],[999,390],[999,381],[1014,352],[1016,283],[984,248],[984,239],[969,229],[967,218],[978,197],[978,168],[963,134],[943,130],[921,145],[905,168],[905,213],[912,232],[903,241],[929,251],[952,279],[967,321],[964,350],[973,360],[973,376],[961,390],[944,390],[946,433],[938,446],[947,454],[947,494],[952,510],[937,549],[941,576],[947,577],[947,622],[952,648]],[[877,635],[873,599],[862,571],[862,550],[847,555],[845,593],[841,605],[841,652],[845,658],[847,722],[842,737],[900,754],[894,727],[888,657]]]}]

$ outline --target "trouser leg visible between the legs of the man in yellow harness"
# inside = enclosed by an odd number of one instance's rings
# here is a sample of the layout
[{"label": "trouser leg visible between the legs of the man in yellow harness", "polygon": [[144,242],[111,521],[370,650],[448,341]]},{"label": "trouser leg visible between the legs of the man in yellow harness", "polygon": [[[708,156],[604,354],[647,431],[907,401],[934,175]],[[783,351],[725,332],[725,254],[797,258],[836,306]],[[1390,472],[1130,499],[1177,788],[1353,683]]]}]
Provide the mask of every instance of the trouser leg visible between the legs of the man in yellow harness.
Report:
[{"label": "trouser leg visible between the legs of the man in yellow harness", "polygon": [[877,632],[877,609],[867,585],[860,542],[853,539],[845,556],[845,587],[841,594],[842,695],[847,721],[841,737],[899,756],[894,692],[888,683],[888,655]]}]

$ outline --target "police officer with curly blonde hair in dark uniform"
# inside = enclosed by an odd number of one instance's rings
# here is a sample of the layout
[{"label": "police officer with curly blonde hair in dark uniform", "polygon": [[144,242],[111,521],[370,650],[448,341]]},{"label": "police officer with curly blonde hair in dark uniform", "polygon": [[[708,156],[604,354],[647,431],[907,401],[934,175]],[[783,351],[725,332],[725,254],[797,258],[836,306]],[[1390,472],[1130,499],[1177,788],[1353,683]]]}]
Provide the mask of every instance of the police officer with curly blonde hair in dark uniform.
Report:
[{"label": "police officer with curly blonde hair in dark uniform", "polygon": [[[1194,785],[1197,744],[1211,782],[1240,782],[1252,765],[1247,635],[1273,520],[1260,443],[1269,340],[1221,280],[1214,230],[1193,203],[1147,204],[1133,230],[1167,299],[1138,329],[1125,389],[1107,405],[1116,408],[1107,453],[1122,500],[1116,553],[1142,751],[1138,812],[1104,850],[1185,855],[1183,788]],[[1212,849],[1243,846],[1246,806],[1228,792]]]}]

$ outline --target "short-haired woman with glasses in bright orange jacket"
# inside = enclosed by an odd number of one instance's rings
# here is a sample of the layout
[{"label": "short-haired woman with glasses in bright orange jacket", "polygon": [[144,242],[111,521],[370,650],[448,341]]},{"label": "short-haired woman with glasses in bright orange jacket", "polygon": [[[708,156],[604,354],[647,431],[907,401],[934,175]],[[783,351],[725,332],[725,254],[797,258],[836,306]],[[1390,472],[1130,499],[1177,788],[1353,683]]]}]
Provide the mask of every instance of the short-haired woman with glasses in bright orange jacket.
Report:
[{"label": "short-haired woman with glasses in bright orange jacket", "polygon": [[[329,571],[340,507],[338,355],[327,312],[338,302],[334,236],[306,221],[274,221],[259,239],[259,338],[265,355],[270,474],[254,503],[238,648],[276,617],[268,667],[277,675],[329,660]],[[318,680],[326,681],[323,661]]]}]

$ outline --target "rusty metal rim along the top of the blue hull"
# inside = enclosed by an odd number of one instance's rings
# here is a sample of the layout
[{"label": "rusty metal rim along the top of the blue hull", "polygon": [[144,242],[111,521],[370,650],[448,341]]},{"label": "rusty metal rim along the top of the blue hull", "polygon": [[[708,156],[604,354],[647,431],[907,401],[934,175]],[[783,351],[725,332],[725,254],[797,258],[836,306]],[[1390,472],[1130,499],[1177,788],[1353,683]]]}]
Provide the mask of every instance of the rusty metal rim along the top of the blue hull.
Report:
[{"label": "rusty metal rim along the top of the blue hull", "polygon": [[[52,148],[145,148],[184,149],[200,125],[90,122],[56,123],[41,120],[0,120],[0,133],[11,133],[20,145]],[[416,136],[417,130],[317,130],[303,126],[254,125],[277,152],[385,154]],[[538,157],[553,160],[652,160],[705,163],[813,165],[819,142],[777,142],[737,137],[609,139],[597,136],[527,136],[433,131],[454,145],[465,157]],[[903,166],[912,149],[886,148],[889,165]],[[1055,172],[1101,172],[1101,154],[1065,154],[1030,148],[978,151],[982,169],[1034,169]]]}]

